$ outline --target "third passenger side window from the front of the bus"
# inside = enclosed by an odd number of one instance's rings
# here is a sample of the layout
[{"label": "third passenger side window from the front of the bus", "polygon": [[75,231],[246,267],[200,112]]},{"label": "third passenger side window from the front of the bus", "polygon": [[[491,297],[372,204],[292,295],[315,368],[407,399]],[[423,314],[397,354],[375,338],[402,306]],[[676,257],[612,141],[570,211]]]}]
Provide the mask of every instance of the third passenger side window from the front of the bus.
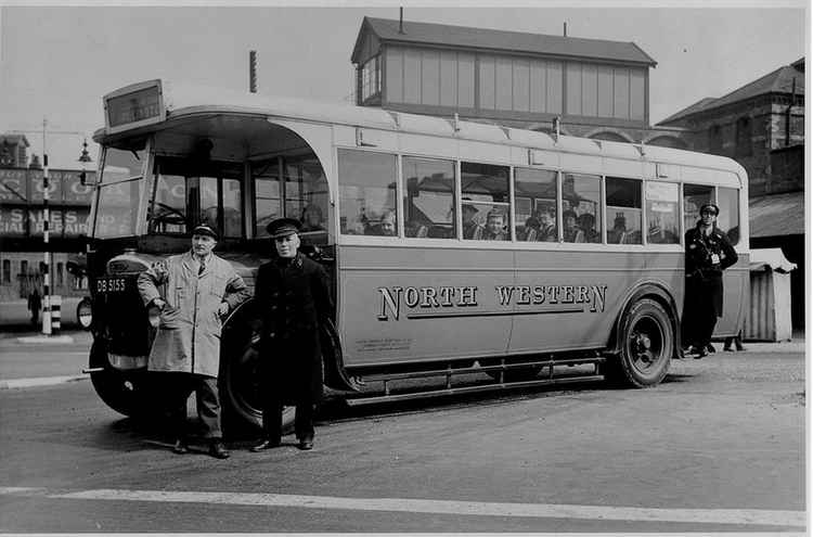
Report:
[{"label": "third passenger side window from the front of the bus", "polygon": [[508,168],[461,163],[463,239],[509,241]]}]

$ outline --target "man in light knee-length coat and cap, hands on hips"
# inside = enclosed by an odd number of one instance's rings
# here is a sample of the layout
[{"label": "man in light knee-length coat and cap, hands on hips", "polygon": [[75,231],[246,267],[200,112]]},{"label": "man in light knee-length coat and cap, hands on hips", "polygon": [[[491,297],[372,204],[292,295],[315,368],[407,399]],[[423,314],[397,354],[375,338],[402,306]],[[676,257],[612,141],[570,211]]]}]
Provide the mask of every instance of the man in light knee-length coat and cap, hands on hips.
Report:
[{"label": "man in light knee-length coat and cap, hands on hips", "polygon": [[[215,255],[218,234],[209,226],[192,231],[192,250],[142,272],[139,293],[147,307],[160,311],[160,323],[147,369],[160,371],[177,433],[176,453],[189,448],[184,433],[186,399],[197,396],[197,413],[209,440],[209,455],[227,459],[220,427],[220,331],[230,311],[250,297],[232,265]],[[162,296],[158,287],[166,289]]]}]

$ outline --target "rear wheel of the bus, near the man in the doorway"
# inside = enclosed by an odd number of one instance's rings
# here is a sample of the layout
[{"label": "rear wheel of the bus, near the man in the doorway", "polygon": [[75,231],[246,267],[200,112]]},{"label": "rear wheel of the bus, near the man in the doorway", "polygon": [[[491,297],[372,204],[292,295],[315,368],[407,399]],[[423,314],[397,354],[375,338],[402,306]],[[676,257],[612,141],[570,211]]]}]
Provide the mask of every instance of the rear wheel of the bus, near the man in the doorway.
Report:
[{"label": "rear wheel of the bus, near the man in the doorway", "polygon": [[632,387],[655,386],[669,371],[674,330],[666,308],[651,298],[637,301],[621,320],[620,354],[608,361],[608,376]]}]

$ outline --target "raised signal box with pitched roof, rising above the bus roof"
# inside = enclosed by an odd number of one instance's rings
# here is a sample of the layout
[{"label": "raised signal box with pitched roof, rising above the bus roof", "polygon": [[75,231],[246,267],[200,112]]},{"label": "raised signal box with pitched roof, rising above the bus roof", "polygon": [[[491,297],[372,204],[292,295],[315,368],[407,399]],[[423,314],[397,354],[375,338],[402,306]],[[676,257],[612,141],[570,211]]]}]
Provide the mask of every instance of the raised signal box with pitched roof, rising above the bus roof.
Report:
[{"label": "raised signal box with pitched roof, rising above the bus roof", "polygon": [[649,69],[633,42],[364,17],[351,62],[362,106],[684,148],[649,126]]}]

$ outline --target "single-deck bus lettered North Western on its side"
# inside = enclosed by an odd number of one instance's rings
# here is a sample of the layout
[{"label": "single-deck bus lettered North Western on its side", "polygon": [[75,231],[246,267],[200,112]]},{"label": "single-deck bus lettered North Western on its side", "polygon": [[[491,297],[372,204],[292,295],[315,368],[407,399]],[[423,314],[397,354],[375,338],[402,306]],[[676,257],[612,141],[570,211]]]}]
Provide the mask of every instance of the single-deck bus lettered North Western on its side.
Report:
[{"label": "single-deck bus lettered North Western on its side", "polygon": [[[748,180],[728,158],[160,80],[104,102],[90,371],[121,412],[151,389],[156,328],[134,279],[188,250],[199,221],[253,285],[272,255],[266,225],[302,219],[335,293],[325,384],[348,400],[365,381],[392,398],[398,379],[482,371],[504,387],[583,362],[591,378],[657,384],[681,353],[683,236],[708,202],[739,254],[715,336],[741,327]],[[221,350],[225,410],[255,424],[256,307],[231,315]]]}]

